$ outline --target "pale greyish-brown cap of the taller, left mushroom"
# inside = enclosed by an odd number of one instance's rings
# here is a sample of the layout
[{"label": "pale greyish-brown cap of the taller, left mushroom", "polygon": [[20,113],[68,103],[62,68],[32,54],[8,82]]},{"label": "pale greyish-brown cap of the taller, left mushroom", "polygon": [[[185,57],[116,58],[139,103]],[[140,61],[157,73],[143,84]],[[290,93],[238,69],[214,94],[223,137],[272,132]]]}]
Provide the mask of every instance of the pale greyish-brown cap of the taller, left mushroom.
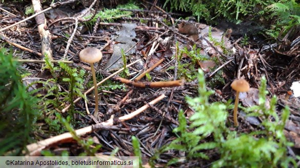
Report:
[{"label": "pale greyish-brown cap of the taller, left mushroom", "polygon": [[86,48],[79,53],[81,61],[86,63],[95,63],[102,59],[102,53],[96,48]]}]

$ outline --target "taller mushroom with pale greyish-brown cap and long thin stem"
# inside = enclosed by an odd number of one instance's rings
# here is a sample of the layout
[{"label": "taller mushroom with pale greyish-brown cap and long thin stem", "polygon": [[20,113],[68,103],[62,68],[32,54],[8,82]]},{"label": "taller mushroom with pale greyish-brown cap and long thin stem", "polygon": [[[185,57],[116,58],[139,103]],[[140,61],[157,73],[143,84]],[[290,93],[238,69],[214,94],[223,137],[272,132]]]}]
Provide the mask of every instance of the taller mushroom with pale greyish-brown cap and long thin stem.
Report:
[{"label": "taller mushroom with pale greyish-brown cap and long thin stem", "polygon": [[91,65],[92,76],[94,81],[94,91],[95,91],[95,112],[94,116],[98,118],[98,89],[96,81],[96,73],[94,68],[94,63],[102,59],[102,53],[96,48],[86,48],[79,53],[79,58],[81,61],[89,63]]}]

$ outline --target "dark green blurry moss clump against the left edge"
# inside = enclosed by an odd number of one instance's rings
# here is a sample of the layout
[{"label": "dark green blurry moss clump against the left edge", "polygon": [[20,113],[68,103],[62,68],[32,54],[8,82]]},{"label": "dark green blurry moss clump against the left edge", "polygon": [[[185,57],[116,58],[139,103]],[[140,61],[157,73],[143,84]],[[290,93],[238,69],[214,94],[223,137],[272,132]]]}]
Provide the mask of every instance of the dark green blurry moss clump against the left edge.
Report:
[{"label": "dark green blurry moss clump against the left edge", "polygon": [[41,116],[34,92],[28,92],[21,68],[5,48],[0,51],[0,156],[23,155]]}]

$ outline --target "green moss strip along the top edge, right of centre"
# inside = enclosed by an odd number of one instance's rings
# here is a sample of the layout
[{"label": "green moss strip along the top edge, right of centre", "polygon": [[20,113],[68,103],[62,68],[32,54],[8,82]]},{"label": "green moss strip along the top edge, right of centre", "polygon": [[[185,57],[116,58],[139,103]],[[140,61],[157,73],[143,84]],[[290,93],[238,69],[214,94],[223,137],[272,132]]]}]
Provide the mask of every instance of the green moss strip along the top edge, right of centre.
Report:
[{"label": "green moss strip along the top edge, right of centre", "polygon": [[[259,11],[264,11],[264,8],[274,0],[259,1],[241,1],[241,0],[217,0],[217,1],[196,1],[196,0],[167,0],[164,7],[170,4],[170,10],[182,10],[192,12],[199,19],[205,19],[211,23],[214,18],[225,17],[230,21],[239,22],[243,16],[257,15]],[[263,13],[263,12],[261,12]]]}]

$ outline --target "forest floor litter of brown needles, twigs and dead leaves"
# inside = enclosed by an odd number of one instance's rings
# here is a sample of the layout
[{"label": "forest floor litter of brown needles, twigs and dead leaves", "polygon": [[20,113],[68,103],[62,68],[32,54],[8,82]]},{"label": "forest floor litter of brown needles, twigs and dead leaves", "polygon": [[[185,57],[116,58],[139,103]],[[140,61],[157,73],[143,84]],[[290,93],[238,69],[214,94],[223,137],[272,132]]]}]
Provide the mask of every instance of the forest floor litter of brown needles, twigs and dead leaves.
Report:
[{"label": "forest floor litter of brown needles, twigs and dead leaves", "polygon": [[[27,18],[24,5],[30,3],[0,5],[4,9],[0,10],[0,29]],[[44,4],[43,9],[47,7],[49,5]],[[201,68],[205,73],[207,89],[215,91],[210,96],[210,103],[234,100],[235,91],[230,85],[236,78],[243,78],[249,82],[250,91],[239,102],[245,107],[257,105],[258,87],[261,78],[265,76],[269,91],[267,102],[276,95],[278,115],[281,115],[284,107],[290,109],[285,135],[294,146],[288,147],[288,155],[299,154],[300,99],[293,93],[287,97],[292,83],[300,81],[299,43],[293,46],[280,41],[269,43],[253,33],[258,30],[255,27],[252,29],[247,22],[239,27],[219,25],[214,28],[195,20],[177,20],[182,15],[168,14],[151,4],[145,4],[145,7],[147,10],[128,10],[128,14],[104,22],[101,17],[89,21],[84,17],[86,15],[82,16],[86,8],[80,3],[62,5],[44,12],[46,22],[42,17],[42,21],[37,23],[36,17],[7,30],[0,30],[0,45],[11,49],[13,56],[22,62],[21,67],[30,73],[23,79],[26,85],[56,78],[58,80],[53,85],[59,86],[58,92],[70,92],[69,85],[62,80],[64,73],[59,71],[59,64],[53,64],[58,67],[53,74],[53,69],[43,68],[45,63],[37,61],[44,60],[42,55],[45,53],[49,60],[66,61],[78,74],[84,70],[81,76],[84,89],[81,90],[82,94],[75,94],[72,100],[74,103],[61,101],[59,105],[48,104],[43,108],[43,115],[54,120],[57,119],[55,112],[66,116],[74,111],[74,130],[86,129],[85,133],[77,132],[77,135],[83,139],[92,138],[95,144],[102,144],[97,153],[110,155],[118,147],[117,156],[133,156],[131,136],[134,135],[139,139],[144,165],[147,165],[148,158],[155,151],[176,139],[177,135],[172,130],[179,125],[178,112],[183,110],[187,119],[195,113],[186,103],[186,97],[198,95],[196,75],[197,69]],[[92,10],[86,11],[93,13]],[[43,25],[42,28],[39,25]],[[244,29],[248,31],[248,37],[244,36]],[[289,41],[293,41],[293,38],[296,38],[295,34],[287,36]],[[42,43],[41,39],[48,44]],[[78,56],[86,47],[96,47],[103,54],[101,63],[95,63],[97,82],[101,82],[98,86],[97,116],[93,115],[95,100],[91,68],[89,64],[80,61]],[[121,74],[102,82],[124,67],[124,62],[130,65],[125,71],[121,70]],[[151,70],[141,76],[149,68]],[[34,89],[41,86],[30,87]],[[77,99],[85,92],[87,102]],[[39,93],[46,95],[49,92],[44,89]],[[45,99],[65,100],[65,96],[55,93]],[[239,125],[234,127],[232,111],[228,111],[227,125],[230,129],[238,133],[261,129],[261,118],[245,117],[241,109]],[[135,114],[129,116],[130,113]],[[45,122],[45,119],[37,121],[40,129],[32,133],[35,141],[47,138],[53,140],[55,136],[64,133],[62,130],[57,132],[55,124],[50,123]],[[99,123],[104,126],[89,127]],[[70,140],[69,136],[54,139],[47,145],[32,143],[27,147],[30,155],[41,155],[41,150],[45,149],[50,149],[57,156],[63,150],[72,156],[84,152],[83,147]],[[165,164],[168,160],[166,158],[170,159],[173,155],[180,156],[182,153],[165,154],[157,164]],[[214,154],[207,152],[207,155]],[[204,166],[210,162],[189,162],[185,165]]]}]

